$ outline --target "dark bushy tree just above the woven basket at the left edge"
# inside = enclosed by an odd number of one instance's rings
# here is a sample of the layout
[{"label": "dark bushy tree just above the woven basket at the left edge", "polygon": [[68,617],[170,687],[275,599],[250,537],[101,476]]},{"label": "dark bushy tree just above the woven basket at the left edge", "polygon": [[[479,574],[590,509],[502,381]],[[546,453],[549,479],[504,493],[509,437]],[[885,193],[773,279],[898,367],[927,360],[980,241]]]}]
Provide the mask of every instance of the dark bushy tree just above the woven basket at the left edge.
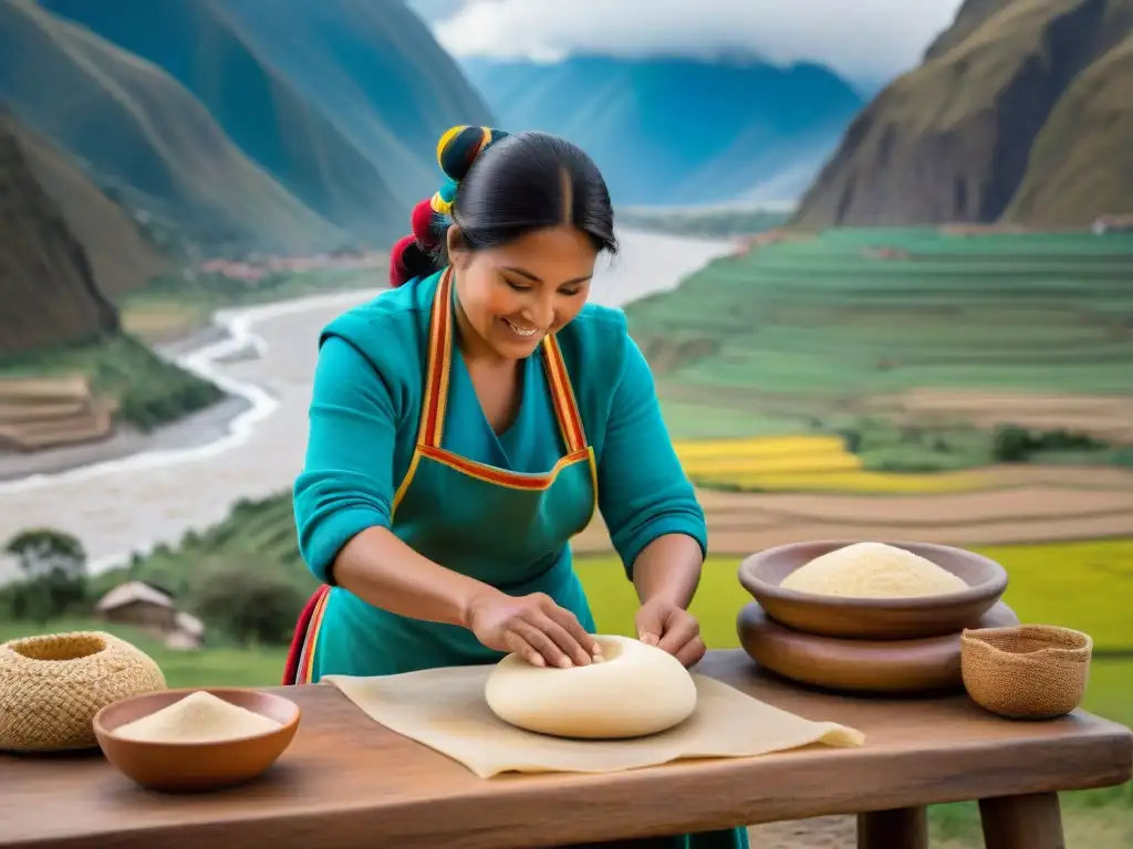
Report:
[{"label": "dark bushy tree just above the woven basket at the left edge", "polygon": [[14,615],[43,624],[86,599],[86,551],[71,534],[34,528],[17,533],[3,550],[24,575],[12,598]]}]

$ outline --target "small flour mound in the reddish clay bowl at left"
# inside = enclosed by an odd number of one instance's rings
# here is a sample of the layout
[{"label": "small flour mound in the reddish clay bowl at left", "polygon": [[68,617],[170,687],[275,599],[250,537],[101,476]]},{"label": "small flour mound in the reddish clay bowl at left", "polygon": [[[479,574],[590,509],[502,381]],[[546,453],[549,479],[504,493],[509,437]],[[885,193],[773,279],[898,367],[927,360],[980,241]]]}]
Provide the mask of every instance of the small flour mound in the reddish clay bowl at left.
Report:
[{"label": "small flour mound in the reddish clay bowl at left", "polygon": [[228,743],[280,728],[270,717],[197,691],[114,729],[114,735],[135,743]]}]

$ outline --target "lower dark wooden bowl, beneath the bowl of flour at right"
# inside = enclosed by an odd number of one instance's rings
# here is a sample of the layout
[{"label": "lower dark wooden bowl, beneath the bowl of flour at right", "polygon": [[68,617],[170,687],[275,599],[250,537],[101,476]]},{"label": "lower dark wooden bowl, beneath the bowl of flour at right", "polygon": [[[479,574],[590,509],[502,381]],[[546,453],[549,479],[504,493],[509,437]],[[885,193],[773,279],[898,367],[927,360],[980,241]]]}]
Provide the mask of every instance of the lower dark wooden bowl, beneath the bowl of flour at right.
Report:
[{"label": "lower dark wooden bowl, beneath the bowl of flour at right", "polygon": [[[974,623],[1019,624],[1002,601]],[[740,644],[759,666],[784,678],[851,693],[911,694],[963,688],[961,636],[843,640],[792,631],[751,601],[736,617]]]}]

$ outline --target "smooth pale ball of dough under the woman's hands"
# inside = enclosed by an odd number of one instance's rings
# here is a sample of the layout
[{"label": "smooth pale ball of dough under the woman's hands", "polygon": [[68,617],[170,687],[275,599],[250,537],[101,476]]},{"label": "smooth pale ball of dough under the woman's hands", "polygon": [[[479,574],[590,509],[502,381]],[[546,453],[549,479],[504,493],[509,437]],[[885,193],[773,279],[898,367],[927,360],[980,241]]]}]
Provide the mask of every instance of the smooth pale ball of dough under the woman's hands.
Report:
[{"label": "smooth pale ball of dough under the woman's hands", "polygon": [[644,737],[683,722],[697,706],[689,670],[638,640],[596,636],[600,662],[560,669],[509,654],[488,675],[492,712],[518,728],[555,737]]}]

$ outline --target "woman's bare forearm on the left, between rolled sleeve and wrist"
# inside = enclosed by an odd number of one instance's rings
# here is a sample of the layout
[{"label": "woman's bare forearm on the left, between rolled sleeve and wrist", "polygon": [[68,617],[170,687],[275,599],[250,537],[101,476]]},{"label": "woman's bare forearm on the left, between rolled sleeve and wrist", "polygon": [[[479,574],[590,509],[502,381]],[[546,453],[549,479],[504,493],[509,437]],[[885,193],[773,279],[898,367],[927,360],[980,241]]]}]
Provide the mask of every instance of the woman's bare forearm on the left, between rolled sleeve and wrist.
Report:
[{"label": "woman's bare forearm on the left, between rolled sleeve and wrist", "polygon": [[399,616],[468,627],[472,600],[499,592],[417,554],[386,528],[357,534],[334,560],[334,582]]}]

